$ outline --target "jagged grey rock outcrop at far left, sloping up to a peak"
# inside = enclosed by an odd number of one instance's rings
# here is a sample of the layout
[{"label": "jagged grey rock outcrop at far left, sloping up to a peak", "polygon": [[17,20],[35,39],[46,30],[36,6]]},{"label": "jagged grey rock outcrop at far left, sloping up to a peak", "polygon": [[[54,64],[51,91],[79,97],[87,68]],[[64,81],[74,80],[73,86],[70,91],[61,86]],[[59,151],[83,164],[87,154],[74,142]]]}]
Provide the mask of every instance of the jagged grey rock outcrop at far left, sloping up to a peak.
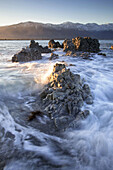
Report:
[{"label": "jagged grey rock outcrop at far left, sloping up to a peak", "polygon": [[19,53],[15,54],[12,57],[12,62],[27,62],[33,60],[42,59],[41,53],[51,52],[48,47],[42,47],[36,43],[34,40],[31,40],[29,47],[23,48]]}]

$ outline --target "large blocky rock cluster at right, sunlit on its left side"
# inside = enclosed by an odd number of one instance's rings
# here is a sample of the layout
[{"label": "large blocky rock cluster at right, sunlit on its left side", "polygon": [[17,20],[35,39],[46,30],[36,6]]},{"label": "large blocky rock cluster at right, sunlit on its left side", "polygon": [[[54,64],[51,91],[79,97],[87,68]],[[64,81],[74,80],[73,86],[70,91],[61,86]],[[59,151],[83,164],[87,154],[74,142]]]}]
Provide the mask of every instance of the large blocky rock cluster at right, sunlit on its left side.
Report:
[{"label": "large blocky rock cluster at right, sunlit on its left side", "polygon": [[83,52],[99,52],[99,42],[97,39],[92,39],[90,37],[76,37],[72,40],[64,40],[63,50],[67,51],[83,51]]}]

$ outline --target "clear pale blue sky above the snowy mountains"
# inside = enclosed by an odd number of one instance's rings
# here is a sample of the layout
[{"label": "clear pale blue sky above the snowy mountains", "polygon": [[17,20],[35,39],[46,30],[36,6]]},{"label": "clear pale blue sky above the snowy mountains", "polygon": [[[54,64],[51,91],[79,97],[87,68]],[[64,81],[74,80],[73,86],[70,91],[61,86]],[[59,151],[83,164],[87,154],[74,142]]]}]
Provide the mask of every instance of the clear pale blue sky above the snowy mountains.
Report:
[{"label": "clear pale blue sky above the snowy mountains", "polygon": [[113,0],[0,0],[0,26],[27,21],[113,23]]}]

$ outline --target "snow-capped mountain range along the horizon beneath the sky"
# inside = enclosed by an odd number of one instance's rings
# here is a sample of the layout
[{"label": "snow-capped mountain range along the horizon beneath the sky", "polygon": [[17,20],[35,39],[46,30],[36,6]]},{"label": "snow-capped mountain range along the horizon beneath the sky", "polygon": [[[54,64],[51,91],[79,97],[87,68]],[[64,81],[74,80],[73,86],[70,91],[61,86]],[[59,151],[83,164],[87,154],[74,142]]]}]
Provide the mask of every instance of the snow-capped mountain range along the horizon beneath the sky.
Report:
[{"label": "snow-capped mountain range along the horizon beneath the sky", "polygon": [[0,26],[0,39],[66,39],[77,36],[113,40],[113,23],[72,23],[43,24],[38,22],[22,22],[19,24]]}]

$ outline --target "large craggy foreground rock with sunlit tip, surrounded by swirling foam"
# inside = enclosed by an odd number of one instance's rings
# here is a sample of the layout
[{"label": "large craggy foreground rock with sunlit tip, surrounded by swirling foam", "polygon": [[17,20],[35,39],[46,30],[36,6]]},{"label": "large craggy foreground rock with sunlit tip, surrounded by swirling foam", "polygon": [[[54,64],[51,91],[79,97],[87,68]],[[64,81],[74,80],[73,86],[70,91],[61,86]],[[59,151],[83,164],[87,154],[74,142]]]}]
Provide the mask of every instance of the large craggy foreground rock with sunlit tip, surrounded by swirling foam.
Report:
[{"label": "large craggy foreground rock with sunlit tip, surrounded by swirling foam", "polygon": [[78,119],[89,114],[88,110],[81,111],[84,102],[93,103],[88,84],[83,84],[80,75],[73,74],[64,64],[58,63],[40,97],[58,130],[76,126]]}]

